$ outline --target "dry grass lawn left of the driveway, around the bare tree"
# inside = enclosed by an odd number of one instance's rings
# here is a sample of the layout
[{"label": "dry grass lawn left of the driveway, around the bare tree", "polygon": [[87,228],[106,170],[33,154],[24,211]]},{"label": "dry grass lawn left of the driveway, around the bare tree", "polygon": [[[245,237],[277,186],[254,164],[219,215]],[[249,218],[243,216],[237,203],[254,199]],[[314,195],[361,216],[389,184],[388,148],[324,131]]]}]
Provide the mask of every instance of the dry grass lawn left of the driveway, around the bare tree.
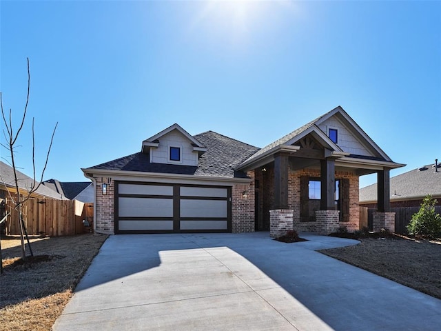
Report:
[{"label": "dry grass lawn left of the driveway, around the bare tree", "polygon": [[34,258],[24,263],[19,238],[2,239],[0,330],[50,330],[105,239],[90,233],[31,239]]}]

